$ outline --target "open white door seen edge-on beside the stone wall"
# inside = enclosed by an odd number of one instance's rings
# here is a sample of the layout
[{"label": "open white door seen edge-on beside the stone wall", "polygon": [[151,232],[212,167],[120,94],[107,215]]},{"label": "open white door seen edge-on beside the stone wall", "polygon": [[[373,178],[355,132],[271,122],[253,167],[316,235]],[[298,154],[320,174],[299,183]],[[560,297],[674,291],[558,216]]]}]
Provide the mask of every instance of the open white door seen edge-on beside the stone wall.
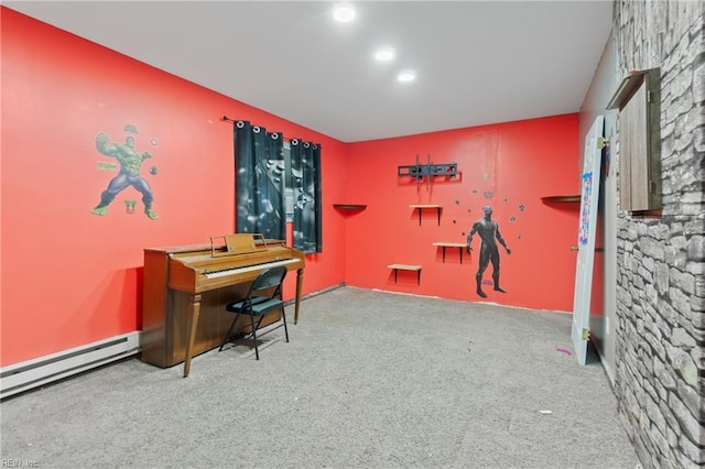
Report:
[{"label": "open white door seen edge-on beside the stone wall", "polygon": [[585,154],[581,189],[581,214],[577,233],[577,263],[575,268],[575,296],[573,299],[573,327],[571,336],[577,361],[587,360],[589,338],[590,291],[595,261],[595,230],[599,197],[600,166],[603,162],[604,117],[598,116],[585,137]]}]

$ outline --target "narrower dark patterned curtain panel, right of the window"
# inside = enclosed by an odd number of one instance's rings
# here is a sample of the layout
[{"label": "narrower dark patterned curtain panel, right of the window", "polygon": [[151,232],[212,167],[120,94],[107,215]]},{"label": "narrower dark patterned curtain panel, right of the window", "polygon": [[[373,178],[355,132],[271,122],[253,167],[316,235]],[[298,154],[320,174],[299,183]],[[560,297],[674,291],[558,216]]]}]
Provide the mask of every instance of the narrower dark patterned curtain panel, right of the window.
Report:
[{"label": "narrower dark patterned curtain panel, right of the window", "polygon": [[323,252],[321,219],[321,145],[294,139],[291,173],[294,196],[294,248]]}]

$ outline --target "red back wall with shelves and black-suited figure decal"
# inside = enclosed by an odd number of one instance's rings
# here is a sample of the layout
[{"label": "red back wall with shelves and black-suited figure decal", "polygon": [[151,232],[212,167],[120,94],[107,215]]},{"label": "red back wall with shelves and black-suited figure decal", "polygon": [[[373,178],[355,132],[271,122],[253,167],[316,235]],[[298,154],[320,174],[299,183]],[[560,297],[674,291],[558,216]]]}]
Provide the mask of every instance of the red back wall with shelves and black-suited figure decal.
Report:
[{"label": "red back wall with shelves and black-suited figure decal", "polygon": [[[455,178],[420,185],[398,176],[398,166],[457,163]],[[541,197],[578,194],[577,114],[448,130],[348,145],[346,203],[367,205],[346,219],[346,281],[349,285],[487,301],[529,308],[572,310],[577,240],[577,204],[546,205]],[[442,206],[419,212],[410,205]],[[464,242],[470,226],[490,205],[511,249],[500,247],[500,285],[476,294],[479,237],[471,255],[442,250],[435,241]],[[394,283],[392,263],[422,265],[421,285],[411,272]],[[491,281],[491,265],[484,275]]]}]

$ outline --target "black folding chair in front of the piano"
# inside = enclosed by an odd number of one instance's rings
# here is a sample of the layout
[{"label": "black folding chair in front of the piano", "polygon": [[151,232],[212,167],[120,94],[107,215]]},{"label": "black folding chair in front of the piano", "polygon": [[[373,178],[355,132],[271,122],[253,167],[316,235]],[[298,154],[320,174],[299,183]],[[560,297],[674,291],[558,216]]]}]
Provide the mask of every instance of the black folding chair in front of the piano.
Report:
[{"label": "black folding chair in front of the piano", "polygon": [[[228,332],[225,335],[218,351],[221,351],[223,347],[230,341],[230,335],[232,334],[240,315],[247,315],[250,317],[250,326],[252,327],[252,330],[245,336],[252,336],[252,340],[254,342],[254,355],[259,360],[260,352],[257,348],[257,329],[260,327],[260,324],[262,324],[264,315],[276,309],[281,309],[282,312],[281,323],[278,326],[268,329],[265,332],[260,334],[260,337],[264,334],[271,332],[272,330],[279,329],[280,327],[284,327],[284,335],[286,336],[286,341],[289,341],[286,314],[284,313],[284,302],[282,301],[282,283],[284,282],[285,276],[286,268],[281,265],[263,270],[250,285],[245,299],[230,303],[226,306],[226,309],[230,313],[236,313],[236,316],[235,319],[232,319],[232,324],[230,325]],[[268,291],[272,292],[267,294]],[[254,317],[259,318],[257,324],[254,324]]]}]

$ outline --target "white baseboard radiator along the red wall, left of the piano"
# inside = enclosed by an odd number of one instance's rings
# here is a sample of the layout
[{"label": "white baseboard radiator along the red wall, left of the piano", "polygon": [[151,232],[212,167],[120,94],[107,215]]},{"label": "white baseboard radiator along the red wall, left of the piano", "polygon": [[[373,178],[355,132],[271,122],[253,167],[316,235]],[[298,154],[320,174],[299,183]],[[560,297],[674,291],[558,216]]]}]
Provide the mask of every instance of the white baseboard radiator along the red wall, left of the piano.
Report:
[{"label": "white baseboard radiator along the red wall, left of the piano", "polygon": [[0,400],[140,352],[140,331],[40,357],[0,370]]}]

